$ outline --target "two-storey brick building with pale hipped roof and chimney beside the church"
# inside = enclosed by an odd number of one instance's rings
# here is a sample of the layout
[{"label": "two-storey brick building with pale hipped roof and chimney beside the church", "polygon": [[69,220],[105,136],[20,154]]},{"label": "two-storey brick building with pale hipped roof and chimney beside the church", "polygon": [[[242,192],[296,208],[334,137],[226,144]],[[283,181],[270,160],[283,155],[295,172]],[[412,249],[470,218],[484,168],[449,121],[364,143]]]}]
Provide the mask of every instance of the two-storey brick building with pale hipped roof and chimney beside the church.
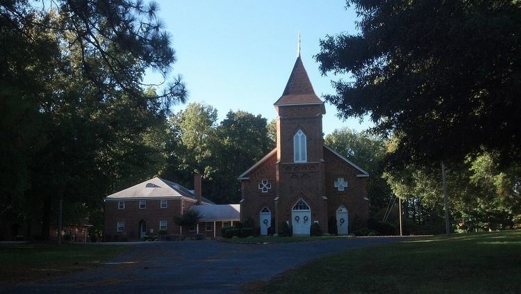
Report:
[{"label": "two-storey brick building with pale hipped roof and chimney beside the church", "polygon": [[213,214],[203,215],[197,226],[182,228],[183,235],[197,234],[204,226],[207,236],[220,236],[223,225],[239,221],[239,212],[232,218],[229,205],[217,205],[201,196],[200,174],[194,177],[194,190],[158,177],[149,179],[105,198],[105,239],[136,240],[157,235],[159,230],[165,230],[167,235],[181,234],[174,216],[189,209],[206,211],[198,209],[202,206],[212,206]]}]

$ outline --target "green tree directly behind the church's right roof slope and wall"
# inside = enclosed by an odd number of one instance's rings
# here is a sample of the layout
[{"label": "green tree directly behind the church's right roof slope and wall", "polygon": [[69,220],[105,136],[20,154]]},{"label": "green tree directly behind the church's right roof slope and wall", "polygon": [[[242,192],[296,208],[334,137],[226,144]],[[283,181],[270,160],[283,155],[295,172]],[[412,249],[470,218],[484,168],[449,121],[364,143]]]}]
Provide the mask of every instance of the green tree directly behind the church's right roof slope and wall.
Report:
[{"label": "green tree directly behind the church's right roof slope and wall", "polygon": [[336,152],[356,163],[370,174],[367,194],[370,198],[370,211],[377,213],[388,204],[392,193],[383,173],[383,160],[386,156],[386,142],[379,136],[368,132],[356,132],[348,128],[336,129],[326,135],[324,142]]}]

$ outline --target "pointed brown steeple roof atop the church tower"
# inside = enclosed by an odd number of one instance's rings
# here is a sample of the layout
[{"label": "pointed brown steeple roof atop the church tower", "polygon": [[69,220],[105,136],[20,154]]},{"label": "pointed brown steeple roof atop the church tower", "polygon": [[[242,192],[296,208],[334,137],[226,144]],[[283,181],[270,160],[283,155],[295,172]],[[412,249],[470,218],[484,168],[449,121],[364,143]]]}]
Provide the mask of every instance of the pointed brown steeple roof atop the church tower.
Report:
[{"label": "pointed brown steeple roof atop the church tower", "polygon": [[275,106],[291,104],[324,104],[313,90],[313,85],[309,81],[308,73],[300,56],[297,57],[290,79],[282,93],[282,97],[275,102]]}]

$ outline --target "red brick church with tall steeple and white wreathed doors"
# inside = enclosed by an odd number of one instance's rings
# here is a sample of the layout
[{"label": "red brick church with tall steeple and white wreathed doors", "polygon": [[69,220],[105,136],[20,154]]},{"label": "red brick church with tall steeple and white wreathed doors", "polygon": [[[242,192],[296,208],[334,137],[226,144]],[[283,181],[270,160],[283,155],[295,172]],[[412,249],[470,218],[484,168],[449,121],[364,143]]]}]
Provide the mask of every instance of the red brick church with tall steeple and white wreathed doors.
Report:
[{"label": "red brick church with tall steeple and white wreathed doors", "polygon": [[241,220],[253,218],[261,235],[279,232],[280,224],[286,222],[294,236],[309,235],[313,222],[325,233],[328,221],[334,221],[338,234],[348,234],[355,219],[365,223],[369,174],[324,145],[326,109],[315,95],[300,49],[274,106],[279,114],[276,148],[238,178]]}]

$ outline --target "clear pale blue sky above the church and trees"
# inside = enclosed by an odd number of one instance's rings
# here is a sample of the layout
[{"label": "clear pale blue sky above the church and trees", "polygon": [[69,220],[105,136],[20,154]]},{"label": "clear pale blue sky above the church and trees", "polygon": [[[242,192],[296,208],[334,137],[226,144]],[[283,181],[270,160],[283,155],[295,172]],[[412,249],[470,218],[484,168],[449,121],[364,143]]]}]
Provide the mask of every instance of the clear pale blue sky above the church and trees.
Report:
[{"label": "clear pale blue sky above the church and trees", "polygon": [[[190,102],[217,108],[220,120],[230,110],[276,117],[273,103],[281,96],[297,58],[301,57],[317,95],[333,93],[331,79],[322,76],[313,55],[325,35],[356,33],[354,8],[345,1],[156,1],[166,30],[172,35],[177,63]],[[160,81],[147,74],[146,82]],[[184,108],[174,106],[174,111]],[[324,133],[342,126],[367,129],[370,122],[341,121],[326,104]]]}]

